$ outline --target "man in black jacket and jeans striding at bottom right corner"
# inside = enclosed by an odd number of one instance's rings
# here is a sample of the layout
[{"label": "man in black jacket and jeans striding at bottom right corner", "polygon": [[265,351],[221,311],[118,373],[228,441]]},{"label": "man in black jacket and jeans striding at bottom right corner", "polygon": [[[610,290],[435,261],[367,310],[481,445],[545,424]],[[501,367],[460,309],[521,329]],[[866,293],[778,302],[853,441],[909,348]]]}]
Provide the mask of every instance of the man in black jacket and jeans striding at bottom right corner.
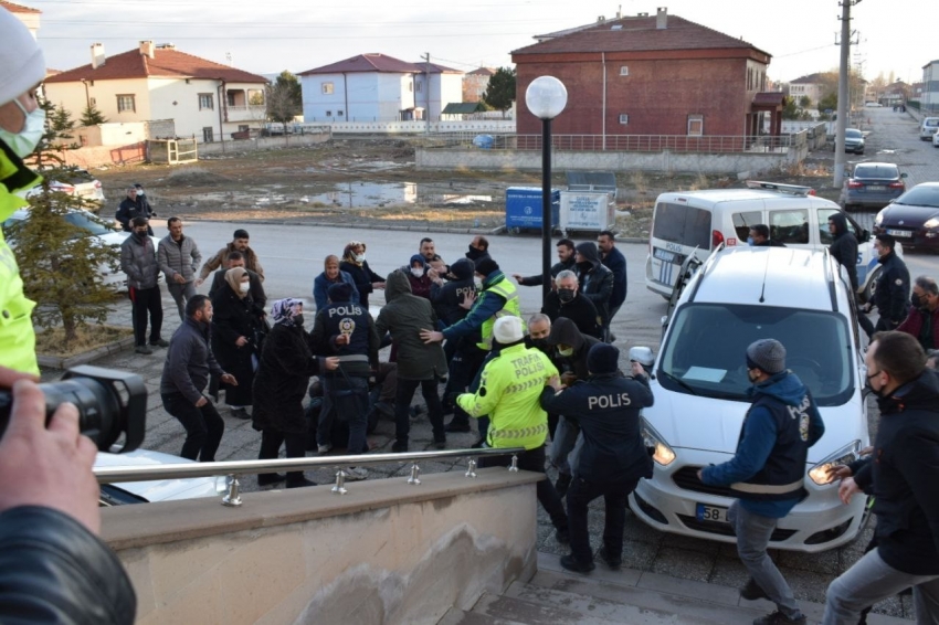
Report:
[{"label": "man in black jacket and jeans striding at bottom right corner", "polygon": [[867,384],[880,423],[873,462],[842,480],[847,504],[874,495],[877,548],[831,583],[826,625],[857,623],[861,611],[912,586],[917,623],[939,622],[939,377],[919,342],[904,332],[878,335],[867,348]]}]

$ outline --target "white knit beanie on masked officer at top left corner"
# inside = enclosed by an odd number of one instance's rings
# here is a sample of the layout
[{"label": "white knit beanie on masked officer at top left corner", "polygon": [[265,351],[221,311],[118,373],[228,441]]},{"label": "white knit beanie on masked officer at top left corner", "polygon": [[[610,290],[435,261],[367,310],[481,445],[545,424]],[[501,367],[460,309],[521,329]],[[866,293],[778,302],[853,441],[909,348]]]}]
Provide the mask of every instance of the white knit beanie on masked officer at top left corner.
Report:
[{"label": "white knit beanie on masked officer at top left corner", "polygon": [[7,104],[45,80],[45,57],[25,24],[6,9],[0,41],[0,104]]}]

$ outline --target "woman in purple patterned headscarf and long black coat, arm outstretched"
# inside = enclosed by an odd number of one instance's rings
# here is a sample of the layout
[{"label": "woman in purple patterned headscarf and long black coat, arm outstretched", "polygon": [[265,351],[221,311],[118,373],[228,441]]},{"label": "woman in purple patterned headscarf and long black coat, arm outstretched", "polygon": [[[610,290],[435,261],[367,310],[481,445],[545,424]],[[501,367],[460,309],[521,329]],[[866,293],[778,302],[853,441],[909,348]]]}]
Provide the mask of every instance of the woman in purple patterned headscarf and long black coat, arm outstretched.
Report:
[{"label": "woman in purple patterned headscarf and long black coat, arm outstretched", "polygon": [[[303,301],[288,297],[271,306],[274,327],[264,341],[261,364],[254,377],[253,425],[261,431],[261,452],[257,459],[276,458],[285,445],[288,458],[306,455],[309,423],[304,415],[303,399],[309,377],[333,371],[339,366],[336,357],[317,358],[309,349],[309,336],[303,327]],[[259,486],[287,480],[287,488],[316,486],[302,470],[261,474]]]}]

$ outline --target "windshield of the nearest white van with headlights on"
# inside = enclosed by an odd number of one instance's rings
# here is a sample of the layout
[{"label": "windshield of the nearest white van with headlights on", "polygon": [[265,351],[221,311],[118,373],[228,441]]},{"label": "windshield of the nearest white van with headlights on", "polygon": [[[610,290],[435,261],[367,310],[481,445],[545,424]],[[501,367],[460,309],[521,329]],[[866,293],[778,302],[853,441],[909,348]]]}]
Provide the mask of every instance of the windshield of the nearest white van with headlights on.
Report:
[{"label": "windshield of the nearest white van with headlights on", "polygon": [[785,346],[787,367],[819,405],[841,405],[854,392],[851,333],[834,312],[768,306],[687,304],[672,321],[658,362],[672,391],[748,402],[745,353],[757,339]]}]

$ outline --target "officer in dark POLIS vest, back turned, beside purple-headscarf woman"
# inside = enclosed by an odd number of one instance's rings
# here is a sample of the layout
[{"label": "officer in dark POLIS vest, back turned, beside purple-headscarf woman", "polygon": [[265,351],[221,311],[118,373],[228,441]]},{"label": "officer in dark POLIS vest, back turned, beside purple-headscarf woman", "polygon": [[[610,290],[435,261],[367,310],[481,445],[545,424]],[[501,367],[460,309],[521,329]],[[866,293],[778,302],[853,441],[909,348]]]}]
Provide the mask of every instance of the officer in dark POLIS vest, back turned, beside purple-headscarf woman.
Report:
[{"label": "officer in dark POLIS vest, back turned, beside purple-headscarf woman", "polygon": [[[339,368],[323,375],[323,410],[316,428],[320,454],[333,448],[333,420],[349,425],[349,455],[368,451],[369,384],[372,370],[378,369],[380,339],[374,320],[358,303],[352,303],[352,286],[337,283],[327,290],[328,304],[317,311],[310,335],[314,353],[338,354]],[[348,479],[365,479],[366,469],[346,469]]]}]

